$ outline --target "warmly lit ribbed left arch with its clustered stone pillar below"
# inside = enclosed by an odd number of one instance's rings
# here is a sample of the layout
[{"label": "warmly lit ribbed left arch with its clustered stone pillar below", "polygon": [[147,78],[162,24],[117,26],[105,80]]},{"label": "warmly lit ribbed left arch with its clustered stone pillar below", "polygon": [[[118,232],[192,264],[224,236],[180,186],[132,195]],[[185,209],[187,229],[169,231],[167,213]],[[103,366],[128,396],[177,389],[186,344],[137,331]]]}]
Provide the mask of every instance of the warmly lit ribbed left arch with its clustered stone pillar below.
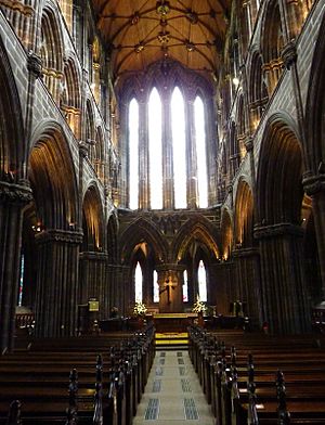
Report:
[{"label": "warmly lit ribbed left arch with its clustered stone pillar below", "polygon": [[76,173],[57,124],[41,124],[34,140],[28,177],[37,219],[36,333],[51,337],[74,335],[82,241]]}]

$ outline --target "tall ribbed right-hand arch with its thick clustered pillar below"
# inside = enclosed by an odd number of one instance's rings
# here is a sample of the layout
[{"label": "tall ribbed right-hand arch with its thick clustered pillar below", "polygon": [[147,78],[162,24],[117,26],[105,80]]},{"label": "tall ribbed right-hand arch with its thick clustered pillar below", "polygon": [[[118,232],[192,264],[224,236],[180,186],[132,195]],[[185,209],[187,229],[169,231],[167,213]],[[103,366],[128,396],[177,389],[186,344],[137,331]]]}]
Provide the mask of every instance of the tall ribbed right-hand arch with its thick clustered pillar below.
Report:
[{"label": "tall ribbed right-hand arch with its thick clustered pillar below", "polygon": [[302,150],[294,128],[286,116],[269,120],[257,177],[263,320],[277,334],[310,325],[302,267]]}]

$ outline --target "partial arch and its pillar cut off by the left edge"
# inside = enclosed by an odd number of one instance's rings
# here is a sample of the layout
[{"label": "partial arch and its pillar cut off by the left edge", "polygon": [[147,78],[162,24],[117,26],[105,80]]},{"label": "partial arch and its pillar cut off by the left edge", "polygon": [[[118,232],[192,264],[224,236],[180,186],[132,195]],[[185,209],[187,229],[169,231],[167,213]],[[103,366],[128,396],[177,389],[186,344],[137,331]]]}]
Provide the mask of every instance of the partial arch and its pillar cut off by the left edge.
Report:
[{"label": "partial arch and its pillar cut off by the left edge", "polygon": [[[22,218],[31,192],[24,175],[24,124],[14,75],[0,39],[0,352],[13,348]],[[10,117],[10,119],[8,119]]]}]

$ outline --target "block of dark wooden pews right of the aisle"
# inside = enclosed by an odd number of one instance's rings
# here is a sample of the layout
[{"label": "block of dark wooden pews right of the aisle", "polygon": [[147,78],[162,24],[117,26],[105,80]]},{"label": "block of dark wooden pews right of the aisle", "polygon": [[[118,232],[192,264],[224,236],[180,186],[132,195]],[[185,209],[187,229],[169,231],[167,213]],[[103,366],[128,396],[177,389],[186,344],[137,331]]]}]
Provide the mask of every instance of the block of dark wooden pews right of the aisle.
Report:
[{"label": "block of dark wooden pews right of the aisle", "polygon": [[313,335],[188,329],[216,425],[325,424],[325,349]]}]

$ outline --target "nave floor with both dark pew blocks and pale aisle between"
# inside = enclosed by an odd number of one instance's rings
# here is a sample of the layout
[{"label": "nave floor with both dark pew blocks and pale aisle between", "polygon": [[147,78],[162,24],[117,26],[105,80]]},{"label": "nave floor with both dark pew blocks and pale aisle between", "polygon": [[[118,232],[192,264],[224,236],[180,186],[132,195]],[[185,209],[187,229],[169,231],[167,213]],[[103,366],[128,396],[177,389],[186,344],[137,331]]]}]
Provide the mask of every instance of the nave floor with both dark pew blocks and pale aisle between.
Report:
[{"label": "nave floor with both dark pew blocks and pale aisle between", "polygon": [[34,338],[2,356],[0,424],[325,423],[323,335],[192,325],[185,347],[154,331]]}]

